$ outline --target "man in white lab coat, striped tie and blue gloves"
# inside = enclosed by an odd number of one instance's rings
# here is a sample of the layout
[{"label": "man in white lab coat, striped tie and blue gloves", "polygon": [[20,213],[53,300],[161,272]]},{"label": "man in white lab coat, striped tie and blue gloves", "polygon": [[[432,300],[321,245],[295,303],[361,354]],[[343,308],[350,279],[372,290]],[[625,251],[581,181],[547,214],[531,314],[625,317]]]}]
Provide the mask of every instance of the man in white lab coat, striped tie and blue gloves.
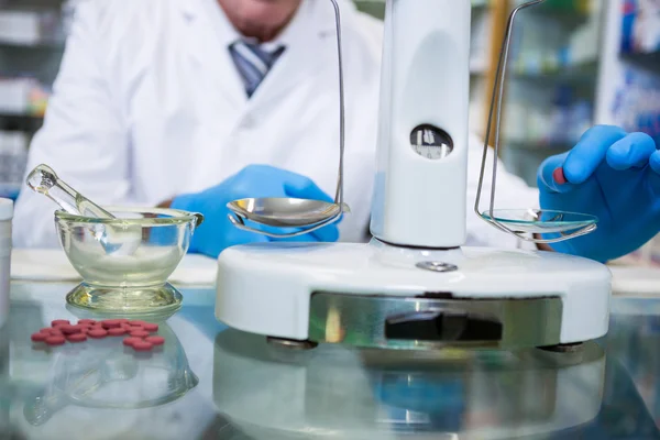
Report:
[{"label": "man in white lab coat, striped tie and blue gloves", "polygon": [[[340,0],[346,76],[341,224],[298,240],[360,241],[374,176],[382,24]],[[29,168],[45,163],[105,205],[172,206],[206,216],[191,251],[217,256],[271,240],[227,220],[243,197],[324,198],[337,178],[339,105],[333,9],[318,0],[82,2]],[[481,141],[471,139],[469,204]],[[563,166],[568,182],[552,174]],[[501,168],[502,169],[502,168]],[[498,179],[498,206],[590,212],[596,232],[554,245],[607,261],[660,224],[660,154],[641,133],[596,127],[539,169],[539,190]],[[561,179],[560,179],[561,180]],[[490,188],[485,188],[488,190]],[[23,191],[16,246],[53,246],[54,205]],[[469,243],[515,246],[469,212]]]}]

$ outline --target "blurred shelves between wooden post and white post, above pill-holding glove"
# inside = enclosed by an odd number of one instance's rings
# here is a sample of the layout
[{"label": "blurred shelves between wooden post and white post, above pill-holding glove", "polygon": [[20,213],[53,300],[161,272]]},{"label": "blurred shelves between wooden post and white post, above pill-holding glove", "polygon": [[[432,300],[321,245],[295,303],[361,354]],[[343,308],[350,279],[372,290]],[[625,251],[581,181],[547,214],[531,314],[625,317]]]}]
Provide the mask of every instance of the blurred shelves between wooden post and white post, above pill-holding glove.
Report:
[{"label": "blurred shelves between wooden post and white post, above pill-holding glove", "polygon": [[[509,0],[509,7],[524,1]],[[568,152],[574,146],[578,141],[573,139],[578,136],[575,127],[582,128],[593,122],[591,107],[595,106],[602,72],[602,54],[598,52],[602,42],[598,35],[603,34],[602,8],[607,1],[548,0],[522,11],[518,16],[521,31],[514,42],[517,45],[513,50],[507,73],[503,110],[508,118],[529,117],[529,123],[539,127],[527,127],[527,121],[506,121],[502,158],[509,172],[530,186],[536,186],[537,169],[547,157]],[[540,33],[544,29],[553,31],[547,38]],[[582,46],[587,42],[588,47]],[[560,61],[565,58],[573,63],[561,65]],[[565,127],[565,134],[549,132],[552,130],[551,121],[548,121],[548,125],[539,121],[544,121],[541,118],[546,116],[551,118],[550,114],[559,114],[557,111],[562,109],[579,111],[575,118],[580,118],[580,121],[569,119],[565,123],[572,127]]]}]

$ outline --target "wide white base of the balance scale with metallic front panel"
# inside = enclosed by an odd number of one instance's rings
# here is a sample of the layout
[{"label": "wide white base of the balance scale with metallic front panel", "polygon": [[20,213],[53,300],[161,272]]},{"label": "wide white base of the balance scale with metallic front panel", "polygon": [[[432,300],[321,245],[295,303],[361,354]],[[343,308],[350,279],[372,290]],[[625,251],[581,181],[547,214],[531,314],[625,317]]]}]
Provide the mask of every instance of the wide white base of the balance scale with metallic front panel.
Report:
[{"label": "wide white base of the balance scale with metallic front panel", "polygon": [[[458,268],[438,273],[424,262]],[[219,257],[216,317],[295,341],[547,346],[605,336],[610,285],[605,265],[552,252],[249,244]]]}]

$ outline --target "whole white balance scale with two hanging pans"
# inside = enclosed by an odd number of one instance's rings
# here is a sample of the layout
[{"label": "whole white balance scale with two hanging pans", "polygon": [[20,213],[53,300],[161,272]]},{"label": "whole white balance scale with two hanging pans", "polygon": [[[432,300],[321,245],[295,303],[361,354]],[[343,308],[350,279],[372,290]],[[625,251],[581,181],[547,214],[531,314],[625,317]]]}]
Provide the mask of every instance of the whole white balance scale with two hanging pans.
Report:
[{"label": "whole white balance scale with two hanging pans", "polygon": [[[342,136],[334,204],[244,199],[229,205],[250,222],[309,233],[348,213],[343,204],[343,77],[336,0]],[[499,119],[515,9],[491,110]],[[387,0],[377,172],[370,243],[260,243],[219,257],[217,318],[288,346],[343,343],[388,349],[557,348],[607,332],[610,273],[594,261],[552,252],[464,246],[471,6],[457,0]],[[495,118],[495,121],[493,119]],[[597,219],[570,212],[475,212],[535,243],[593,231]],[[284,230],[283,230],[284,231]]]}]

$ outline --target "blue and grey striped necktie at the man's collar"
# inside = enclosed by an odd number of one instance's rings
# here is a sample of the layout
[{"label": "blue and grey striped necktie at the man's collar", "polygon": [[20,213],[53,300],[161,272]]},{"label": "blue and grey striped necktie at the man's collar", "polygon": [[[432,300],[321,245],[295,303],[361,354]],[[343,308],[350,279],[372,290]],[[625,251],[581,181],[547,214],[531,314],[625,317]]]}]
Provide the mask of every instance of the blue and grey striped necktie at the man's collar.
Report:
[{"label": "blue and grey striped necktie at the man's collar", "polygon": [[256,91],[271,68],[284,53],[284,47],[278,47],[273,52],[264,51],[258,44],[238,41],[229,46],[229,52],[237,65],[237,69],[243,78],[245,92],[248,97]]}]

